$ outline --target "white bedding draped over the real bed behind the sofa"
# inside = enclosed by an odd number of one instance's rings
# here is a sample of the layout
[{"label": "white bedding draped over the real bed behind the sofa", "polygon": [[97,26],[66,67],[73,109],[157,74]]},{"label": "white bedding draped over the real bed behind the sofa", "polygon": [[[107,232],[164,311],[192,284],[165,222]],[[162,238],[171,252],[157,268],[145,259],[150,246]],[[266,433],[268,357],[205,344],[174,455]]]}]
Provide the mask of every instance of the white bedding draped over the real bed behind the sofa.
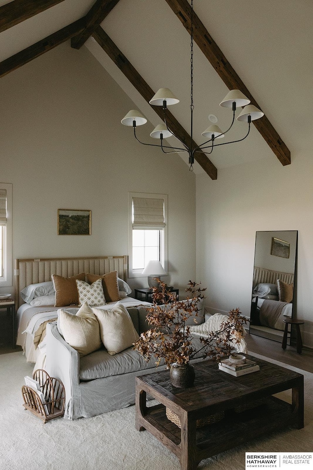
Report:
[{"label": "white bedding draped over the real bed behind the sofa", "polygon": [[[118,302],[121,302],[126,307],[151,305],[149,302],[142,302],[128,296]],[[108,304],[101,305],[97,308],[107,310],[112,308],[115,304],[116,302],[109,302]],[[33,342],[34,335],[42,323],[58,316],[58,308],[53,306],[31,307],[28,304],[22,304],[17,311],[18,335],[16,344],[22,346],[26,361],[35,362],[36,368],[42,368],[44,365],[43,355],[45,354],[45,344],[40,344],[40,346],[35,349]],[[67,310],[72,308],[78,310],[78,307],[73,307],[72,305],[67,305],[63,308],[66,308]]]}]

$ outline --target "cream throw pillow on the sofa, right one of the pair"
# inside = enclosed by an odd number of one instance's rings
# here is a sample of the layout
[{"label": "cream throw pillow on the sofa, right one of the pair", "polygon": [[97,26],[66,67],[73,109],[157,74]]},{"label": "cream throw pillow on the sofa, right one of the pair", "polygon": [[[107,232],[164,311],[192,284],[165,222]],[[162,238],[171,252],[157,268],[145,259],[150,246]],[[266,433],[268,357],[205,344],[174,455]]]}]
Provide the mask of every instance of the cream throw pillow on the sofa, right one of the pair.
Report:
[{"label": "cream throw pillow on the sofa, right one of the pair", "polygon": [[139,338],[130,314],[123,304],[117,303],[110,310],[92,308],[100,325],[100,337],[109,354],[117,354],[130,348]]}]

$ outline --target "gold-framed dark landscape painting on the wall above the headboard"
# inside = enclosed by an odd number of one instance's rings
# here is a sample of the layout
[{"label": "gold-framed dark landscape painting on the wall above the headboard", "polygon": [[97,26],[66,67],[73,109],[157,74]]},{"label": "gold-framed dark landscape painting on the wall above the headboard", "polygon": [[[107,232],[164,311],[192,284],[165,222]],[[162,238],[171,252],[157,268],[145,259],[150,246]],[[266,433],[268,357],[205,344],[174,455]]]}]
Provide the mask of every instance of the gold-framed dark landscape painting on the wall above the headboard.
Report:
[{"label": "gold-framed dark landscape painting on the wall above the headboard", "polygon": [[58,235],[90,235],[91,211],[58,209]]}]

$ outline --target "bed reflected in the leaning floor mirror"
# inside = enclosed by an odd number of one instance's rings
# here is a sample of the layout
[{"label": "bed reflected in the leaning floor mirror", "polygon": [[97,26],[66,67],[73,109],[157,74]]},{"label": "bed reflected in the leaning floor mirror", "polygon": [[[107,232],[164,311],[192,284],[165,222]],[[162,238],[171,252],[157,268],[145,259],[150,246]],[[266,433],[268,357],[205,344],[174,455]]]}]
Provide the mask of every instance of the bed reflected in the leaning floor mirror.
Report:
[{"label": "bed reflected in the leaning floor mirror", "polygon": [[284,319],[292,316],[293,282],[293,274],[254,267],[250,332],[284,331]]}]

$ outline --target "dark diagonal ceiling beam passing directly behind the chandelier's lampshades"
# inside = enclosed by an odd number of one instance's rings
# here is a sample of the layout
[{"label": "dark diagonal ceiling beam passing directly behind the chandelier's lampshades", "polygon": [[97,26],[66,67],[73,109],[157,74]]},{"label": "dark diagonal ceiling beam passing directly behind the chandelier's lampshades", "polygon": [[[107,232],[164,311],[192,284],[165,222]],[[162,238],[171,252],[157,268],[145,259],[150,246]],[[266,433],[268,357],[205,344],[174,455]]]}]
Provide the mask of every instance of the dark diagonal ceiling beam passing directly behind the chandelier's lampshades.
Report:
[{"label": "dark diagonal ceiling beam passing directly behind the chandelier's lampshades", "polygon": [[[141,77],[141,75],[132,66],[125,55],[118,49],[113,43],[112,39],[107,33],[98,26],[92,34],[97,43],[103,48],[103,50],[109,55],[112,61],[117,67],[124,73],[128,80],[134,85],[135,89],[143,96],[143,98],[149,103],[151,97],[155,94],[152,88],[149,87],[148,83]],[[160,106],[152,106],[152,109],[156,114],[163,119],[163,109]],[[190,144],[190,136],[185,129],[179,124],[178,120],[171,114],[167,114],[167,122],[169,128],[186,144]],[[194,142],[194,145],[197,144]],[[201,165],[204,171],[210,176],[212,180],[217,179],[217,168],[207,158],[203,152],[197,152],[195,160]]]}]

